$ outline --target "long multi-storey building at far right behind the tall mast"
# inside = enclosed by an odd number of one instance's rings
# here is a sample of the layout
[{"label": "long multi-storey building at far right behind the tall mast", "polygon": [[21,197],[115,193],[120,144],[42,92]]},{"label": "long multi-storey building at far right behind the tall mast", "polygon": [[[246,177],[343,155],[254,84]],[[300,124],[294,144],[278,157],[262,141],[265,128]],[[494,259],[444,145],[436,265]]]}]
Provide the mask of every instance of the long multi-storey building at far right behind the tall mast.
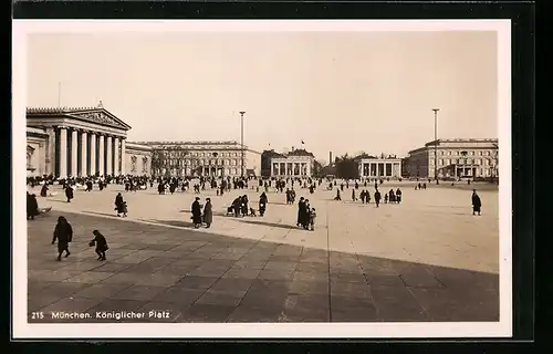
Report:
[{"label": "long multi-storey building at far right behind the tall mast", "polygon": [[[435,158],[435,148],[437,158]],[[497,138],[438,139],[409,152],[405,158],[405,177],[474,178],[499,176]]]}]

